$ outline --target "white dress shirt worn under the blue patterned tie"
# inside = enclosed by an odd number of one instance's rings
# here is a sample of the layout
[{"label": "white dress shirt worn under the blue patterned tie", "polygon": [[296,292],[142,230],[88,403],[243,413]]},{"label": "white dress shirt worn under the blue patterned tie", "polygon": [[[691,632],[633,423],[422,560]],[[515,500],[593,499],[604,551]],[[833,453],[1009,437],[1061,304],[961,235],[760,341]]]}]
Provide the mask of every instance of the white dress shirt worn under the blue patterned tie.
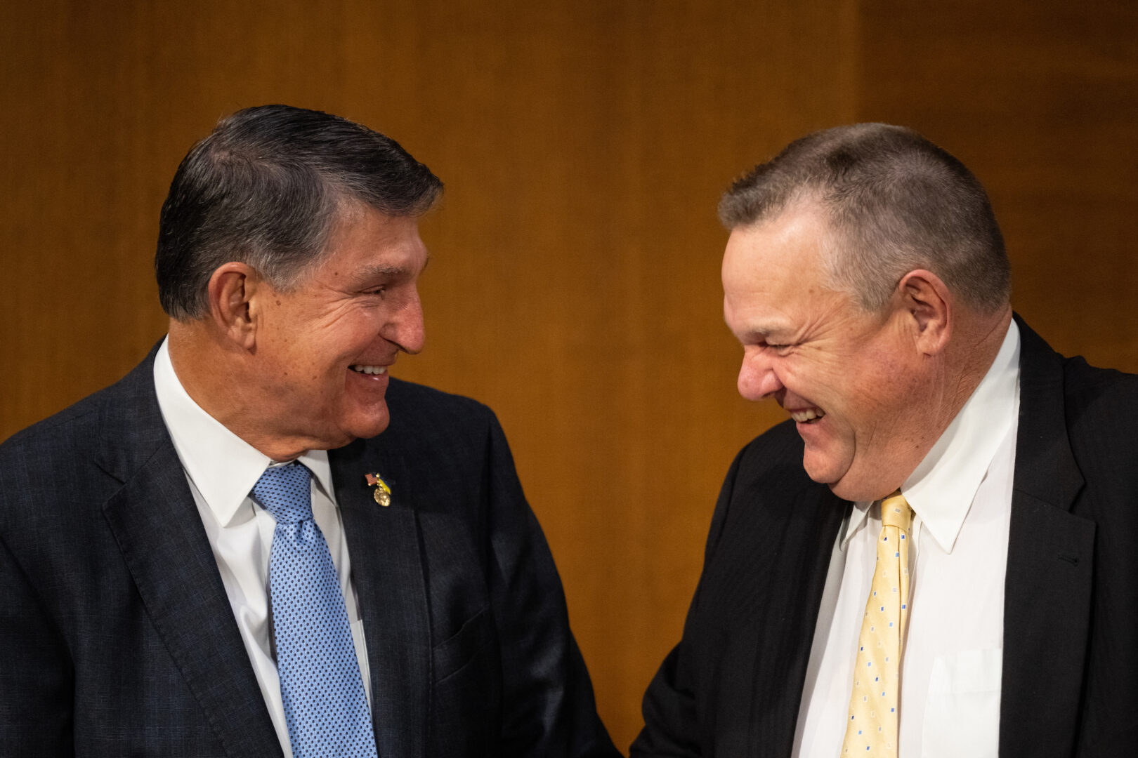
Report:
[{"label": "white dress shirt worn under the blue patterned tie", "polygon": [[[253,485],[273,461],[230,432],[187,394],[174,373],[166,343],[163,340],[154,361],[158,407],[198,506],[237,627],[277,728],[277,738],[286,758],[291,758],[269,606],[269,557],[277,522],[249,497]],[[297,460],[312,472],[312,514],[324,534],[340,577],[340,591],[352,625],[352,641],[370,706],[371,677],[363,622],[352,584],[352,563],[336,505],[328,451],[310,450]]]}]

